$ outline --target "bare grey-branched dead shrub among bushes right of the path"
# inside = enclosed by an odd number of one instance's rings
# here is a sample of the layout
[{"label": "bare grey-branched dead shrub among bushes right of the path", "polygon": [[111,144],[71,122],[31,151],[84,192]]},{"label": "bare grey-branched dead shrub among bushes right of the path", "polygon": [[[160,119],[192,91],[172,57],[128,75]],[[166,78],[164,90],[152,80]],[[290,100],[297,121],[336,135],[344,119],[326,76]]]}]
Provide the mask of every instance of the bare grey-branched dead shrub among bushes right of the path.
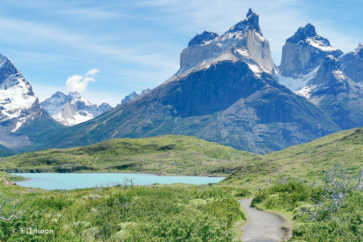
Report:
[{"label": "bare grey-branched dead shrub among bushes right of the path", "polygon": [[363,171],[360,170],[357,175],[351,175],[343,168],[335,167],[325,172],[324,180],[323,192],[320,193],[322,200],[312,198],[315,204],[309,209],[300,211],[311,216],[307,220],[315,221],[321,214],[327,214],[334,219],[332,214],[339,211],[340,206],[345,204],[348,194],[355,190],[362,190]]}]

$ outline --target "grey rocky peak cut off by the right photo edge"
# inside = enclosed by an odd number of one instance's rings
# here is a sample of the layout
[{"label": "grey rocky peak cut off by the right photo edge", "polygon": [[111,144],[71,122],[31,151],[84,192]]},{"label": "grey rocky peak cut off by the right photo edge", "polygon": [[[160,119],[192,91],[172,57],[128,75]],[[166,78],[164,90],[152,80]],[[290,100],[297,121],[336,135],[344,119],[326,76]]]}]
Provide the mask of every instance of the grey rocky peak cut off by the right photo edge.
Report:
[{"label": "grey rocky peak cut off by the right photo edge", "polygon": [[359,43],[354,52],[339,57],[344,74],[363,87],[363,43]]}]

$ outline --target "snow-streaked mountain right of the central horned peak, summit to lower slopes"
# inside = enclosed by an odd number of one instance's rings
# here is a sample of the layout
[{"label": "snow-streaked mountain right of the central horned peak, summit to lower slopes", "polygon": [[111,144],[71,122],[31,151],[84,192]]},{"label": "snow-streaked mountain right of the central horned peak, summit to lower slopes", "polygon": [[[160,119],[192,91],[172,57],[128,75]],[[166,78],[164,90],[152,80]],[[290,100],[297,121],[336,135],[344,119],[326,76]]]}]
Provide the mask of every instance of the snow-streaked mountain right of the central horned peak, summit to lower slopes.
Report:
[{"label": "snow-streaked mountain right of the central horned peak, summit to lower slopes", "polygon": [[[359,53],[351,52],[354,60]],[[275,77],[321,107],[340,128],[349,129],[363,126],[363,89],[342,71],[337,57],[346,61],[344,67],[352,65],[344,56],[307,24],[286,40]]]}]

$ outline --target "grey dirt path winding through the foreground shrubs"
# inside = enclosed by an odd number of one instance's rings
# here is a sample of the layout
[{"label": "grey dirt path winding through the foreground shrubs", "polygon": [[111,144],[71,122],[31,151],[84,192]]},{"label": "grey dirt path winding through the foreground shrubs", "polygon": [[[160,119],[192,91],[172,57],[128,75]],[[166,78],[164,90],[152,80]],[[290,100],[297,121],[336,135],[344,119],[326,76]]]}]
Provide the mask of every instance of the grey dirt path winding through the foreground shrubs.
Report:
[{"label": "grey dirt path winding through the foreground shrubs", "polygon": [[284,221],[276,215],[250,207],[252,198],[238,200],[246,210],[248,219],[242,227],[242,241],[244,242],[279,242],[286,238],[282,230]]}]

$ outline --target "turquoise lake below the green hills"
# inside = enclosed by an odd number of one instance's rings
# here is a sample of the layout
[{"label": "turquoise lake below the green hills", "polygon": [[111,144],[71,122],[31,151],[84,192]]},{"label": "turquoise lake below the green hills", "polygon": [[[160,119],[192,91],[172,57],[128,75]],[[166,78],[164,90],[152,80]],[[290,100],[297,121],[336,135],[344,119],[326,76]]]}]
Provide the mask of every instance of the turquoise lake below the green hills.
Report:
[{"label": "turquoise lake below the green hills", "polygon": [[118,181],[122,182],[124,177],[135,178],[135,185],[147,184],[208,184],[216,183],[225,177],[205,176],[156,176],[140,173],[11,173],[12,175],[23,176],[27,180],[16,181],[21,186],[54,189],[90,188],[101,183]]}]

